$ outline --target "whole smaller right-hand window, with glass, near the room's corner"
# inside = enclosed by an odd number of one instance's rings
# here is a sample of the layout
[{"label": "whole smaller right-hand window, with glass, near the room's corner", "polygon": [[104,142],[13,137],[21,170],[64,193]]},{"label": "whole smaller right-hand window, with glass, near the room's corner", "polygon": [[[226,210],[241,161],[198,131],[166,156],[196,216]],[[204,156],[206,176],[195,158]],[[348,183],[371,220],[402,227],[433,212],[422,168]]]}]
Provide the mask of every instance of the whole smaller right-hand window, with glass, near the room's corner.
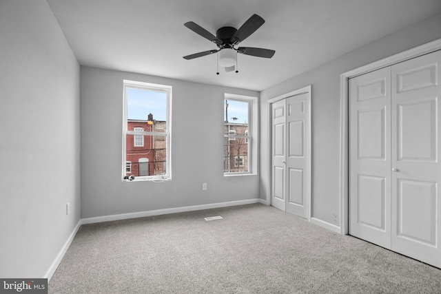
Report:
[{"label": "whole smaller right-hand window, with glass, near the room's corner", "polygon": [[[225,94],[224,107],[224,175],[255,174],[257,98]],[[254,162],[254,163],[253,163]]]}]

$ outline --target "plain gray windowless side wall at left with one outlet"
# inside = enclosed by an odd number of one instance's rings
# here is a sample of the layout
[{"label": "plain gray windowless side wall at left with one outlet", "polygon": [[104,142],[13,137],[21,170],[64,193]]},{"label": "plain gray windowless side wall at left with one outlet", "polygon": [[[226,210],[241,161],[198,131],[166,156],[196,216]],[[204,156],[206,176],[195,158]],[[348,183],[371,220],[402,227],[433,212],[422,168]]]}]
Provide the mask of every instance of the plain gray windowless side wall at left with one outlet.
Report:
[{"label": "plain gray windowless side wall at left with one outlet", "polygon": [[45,0],[2,0],[0,36],[0,277],[43,277],[80,218],[80,67]]}]

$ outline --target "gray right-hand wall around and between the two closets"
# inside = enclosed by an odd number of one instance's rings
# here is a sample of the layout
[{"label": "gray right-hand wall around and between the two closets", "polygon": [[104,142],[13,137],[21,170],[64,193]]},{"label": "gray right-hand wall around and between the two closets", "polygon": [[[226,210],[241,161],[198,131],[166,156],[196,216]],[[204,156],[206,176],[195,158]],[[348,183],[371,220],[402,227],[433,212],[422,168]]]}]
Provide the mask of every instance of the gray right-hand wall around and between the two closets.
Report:
[{"label": "gray right-hand wall around and between the two closets", "polygon": [[340,74],[441,38],[441,14],[404,28],[260,93],[260,198],[267,195],[267,101],[312,85],[311,216],[340,226]]}]

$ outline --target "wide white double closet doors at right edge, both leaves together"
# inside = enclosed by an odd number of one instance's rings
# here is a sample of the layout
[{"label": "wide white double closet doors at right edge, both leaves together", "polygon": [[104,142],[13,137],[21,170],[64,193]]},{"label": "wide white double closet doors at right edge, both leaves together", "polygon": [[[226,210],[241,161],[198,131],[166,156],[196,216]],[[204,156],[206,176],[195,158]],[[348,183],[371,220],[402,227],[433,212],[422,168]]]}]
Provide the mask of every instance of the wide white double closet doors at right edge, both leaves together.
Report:
[{"label": "wide white double closet doors at right edge, both leaves together", "polygon": [[349,81],[349,233],[441,267],[441,52]]}]

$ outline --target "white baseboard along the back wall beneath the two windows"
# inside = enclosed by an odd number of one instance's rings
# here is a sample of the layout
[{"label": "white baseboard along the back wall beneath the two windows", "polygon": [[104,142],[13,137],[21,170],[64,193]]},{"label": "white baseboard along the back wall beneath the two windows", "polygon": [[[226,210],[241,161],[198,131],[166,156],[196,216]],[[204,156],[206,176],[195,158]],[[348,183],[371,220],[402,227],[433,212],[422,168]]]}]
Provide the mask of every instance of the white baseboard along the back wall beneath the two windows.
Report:
[{"label": "white baseboard along the back wall beneath the two windows", "polygon": [[[254,198],[247,200],[237,200],[237,201],[229,201],[229,202],[218,202],[212,204],[201,204],[201,205],[192,205],[187,207],[174,207],[170,209],[155,209],[151,211],[140,211],[133,213],[122,213],[122,214],[114,214],[112,216],[97,216],[95,218],[83,218],[83,224],[94,224],[96,222],[110,222],[112,220],[127,220],[130,218],[145,218],[146,216],[161,216],[163,214],[170,213],[179,213],[186,211],[197,211],[203,209],[216,209],[220,207],[230,207],[236,205],[243,204],[252,204],[252,203],[260,203],[262,199]],[[265,203],[264,203],[265,204]]]}]

